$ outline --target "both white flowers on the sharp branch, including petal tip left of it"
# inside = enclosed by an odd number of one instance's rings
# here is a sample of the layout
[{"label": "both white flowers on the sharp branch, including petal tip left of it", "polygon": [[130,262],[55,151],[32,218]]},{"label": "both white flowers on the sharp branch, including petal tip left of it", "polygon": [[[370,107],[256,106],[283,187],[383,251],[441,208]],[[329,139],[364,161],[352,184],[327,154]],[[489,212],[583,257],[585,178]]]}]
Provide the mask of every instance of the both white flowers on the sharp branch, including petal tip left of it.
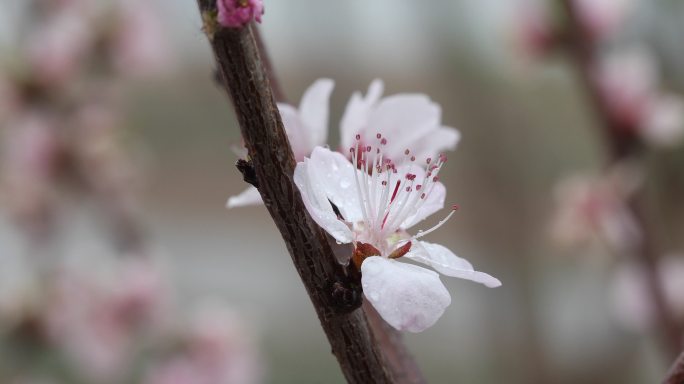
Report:
[{"label": "both white flowers on the sharp branch, including petal tip left of it", "polygon": [[[498,279],[475,271],[448,248],[421,239],[430,229],[408,230],[444,207],[446,187],[441,151],[454,149],[457,130],[441,124],[441,107],[427,96],[398,94],[382,98],[375,80],[365,96],[352,95],[340,123],[339,151],[325,146],[328,100],[333,82],[316,81],[299,108],[278,105],[295,159],[294,172],[311,217],[338,243],[352,244],[351,262],[361,272],[364,296],[398,330],[420,332],[435,324],[451,296],[435,271],[484,284]],[[249,189],[228,207],[258,202]]]}]

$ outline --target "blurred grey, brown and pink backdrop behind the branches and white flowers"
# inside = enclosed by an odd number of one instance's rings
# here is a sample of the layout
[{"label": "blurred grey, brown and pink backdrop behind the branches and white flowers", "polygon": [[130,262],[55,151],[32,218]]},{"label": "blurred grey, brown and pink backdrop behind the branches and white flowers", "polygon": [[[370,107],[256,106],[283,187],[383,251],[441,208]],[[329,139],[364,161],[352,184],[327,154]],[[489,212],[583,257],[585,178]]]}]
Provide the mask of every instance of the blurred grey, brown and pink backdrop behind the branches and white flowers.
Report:
[{"label": "blurred grey, brown and pink backdrop behind the branches and white flowers", "polygon": [[[266,209],[224,208],[245,188],[240,135],[196,4],[136,3],[0,2],[0,382],[343,382]],[[405,335],[429,382],[662,379],[672,356],[632,260],[600,225],[558,224],[582,199],[576,185],[609,189],[611,205],[621,187],[597,185],[622,173],[606,170],[570,53],[535,34],[534,23],[552,23],[539,10],[558,12],[550,1],[265,9],[260,28],[290,102],[335,80],[331,145],[349,96],[375,78],[386,95],[429,95],[463,135],[441,176],[461,209],[429,240],[503,286],[443,279],[452,305]],[[682,94],[683,21],[684,2],[633,0],[597,49],[648,52],[655,87]],[[618,82],[641,81],[626,73]],[[647,141],[637,178],[676,292],[684,149],[671,125]],[[584,241],[563,236],[577,226]],[[684,314],[682,298],[670,304]],[[203,369],[215,376],[194,378]]]}]

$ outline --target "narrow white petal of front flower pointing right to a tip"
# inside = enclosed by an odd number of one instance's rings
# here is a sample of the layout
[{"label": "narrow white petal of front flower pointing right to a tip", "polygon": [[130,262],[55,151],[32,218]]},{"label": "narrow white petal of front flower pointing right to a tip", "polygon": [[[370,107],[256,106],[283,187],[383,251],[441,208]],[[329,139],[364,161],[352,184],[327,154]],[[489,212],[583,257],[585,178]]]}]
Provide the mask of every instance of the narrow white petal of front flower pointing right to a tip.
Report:
[{"label": "narrow white petal of front flower pointing right to a tip", "polygon": [[419,241],[413,244],[411,251],[405,255],[409,259],[427,264],[439,273],[447,276],[471,280],[495,288],[501,285],[499,279],[484,272],[473,269],[468,260],[456,256],[447,247]]}]

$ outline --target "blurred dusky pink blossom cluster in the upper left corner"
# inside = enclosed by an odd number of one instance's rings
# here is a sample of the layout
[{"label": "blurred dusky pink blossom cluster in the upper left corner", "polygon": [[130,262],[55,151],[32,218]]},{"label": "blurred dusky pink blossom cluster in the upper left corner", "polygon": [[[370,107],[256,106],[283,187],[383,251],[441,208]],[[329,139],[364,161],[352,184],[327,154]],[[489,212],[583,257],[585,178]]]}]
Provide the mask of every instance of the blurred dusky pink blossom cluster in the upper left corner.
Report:
[{"label": "blurred dusky pink blossom cluster in the upper left corner", "polygon": [[134,0],[36,0],[30,10],[32,28],[0,73],[3,205],[43,232],[59,186],[77,175],[130,210],[119,80],[169,69],[160,19]]}]

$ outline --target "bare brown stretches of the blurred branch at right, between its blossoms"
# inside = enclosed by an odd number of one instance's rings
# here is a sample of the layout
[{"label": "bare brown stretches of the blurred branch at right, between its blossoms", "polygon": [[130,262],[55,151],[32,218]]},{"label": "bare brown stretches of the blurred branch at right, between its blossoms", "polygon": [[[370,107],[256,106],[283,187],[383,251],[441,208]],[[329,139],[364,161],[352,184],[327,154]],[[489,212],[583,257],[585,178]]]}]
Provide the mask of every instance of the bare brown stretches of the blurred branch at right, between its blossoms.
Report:
[{"label": "bare brown stretches of the blurred branch at right, between its blossoms", "polygon": [[[593,36],[583,27],[578,11],[572,0],[560,0],[565,11],[566,28],[564,30],[565,48],[567,49],[580,80],[585,88],[595,114],[601,122],[603,136],[610,148],[610,164],[637,156],[643,150],[643,144],[637,137],[639,127],[626,126],[611,113],[607,100],[600,92],[594,77],[597,64]],[[657,271],[659,249],[657,247],[652,225],[648,221],[645,210],[645,196],[639,191],[628,202],[628,208],[635,217],[643,234],[642,241],[633,250],[646,272],[648,290],[656,308],[661,341],[668,354],[676,356],[681,348],[682,330],[671,309],[667,305],[665,293]]]}]

